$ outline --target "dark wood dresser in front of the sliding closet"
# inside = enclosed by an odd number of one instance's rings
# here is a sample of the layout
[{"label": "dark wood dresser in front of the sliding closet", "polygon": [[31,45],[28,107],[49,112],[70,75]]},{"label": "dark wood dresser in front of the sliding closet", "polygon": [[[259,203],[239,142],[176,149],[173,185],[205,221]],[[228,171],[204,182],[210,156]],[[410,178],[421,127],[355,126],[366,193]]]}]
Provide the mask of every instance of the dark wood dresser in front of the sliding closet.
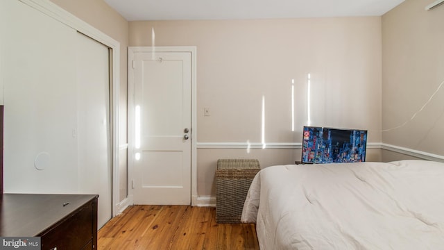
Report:
[{"label": "dark wood dresser in front of the sliding closet", "polygon": [[3,194],[0,236],[41,237],[42,250],[97,249],[95,194]]}]

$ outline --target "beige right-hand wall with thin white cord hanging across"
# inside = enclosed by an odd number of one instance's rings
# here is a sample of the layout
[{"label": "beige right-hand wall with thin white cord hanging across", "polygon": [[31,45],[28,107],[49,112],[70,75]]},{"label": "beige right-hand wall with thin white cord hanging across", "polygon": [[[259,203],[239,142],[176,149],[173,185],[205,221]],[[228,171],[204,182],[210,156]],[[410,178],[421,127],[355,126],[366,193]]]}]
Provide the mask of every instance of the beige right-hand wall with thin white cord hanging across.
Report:
[{"label": "beige right-hand wall with thin white cord hanging across", "polygon": [[411,119],[444,81],[444,6],[424,10],[431,2],[406,0],[382,17],[382,128],[389,130],[382,139],[444,156],[444,88]]}]

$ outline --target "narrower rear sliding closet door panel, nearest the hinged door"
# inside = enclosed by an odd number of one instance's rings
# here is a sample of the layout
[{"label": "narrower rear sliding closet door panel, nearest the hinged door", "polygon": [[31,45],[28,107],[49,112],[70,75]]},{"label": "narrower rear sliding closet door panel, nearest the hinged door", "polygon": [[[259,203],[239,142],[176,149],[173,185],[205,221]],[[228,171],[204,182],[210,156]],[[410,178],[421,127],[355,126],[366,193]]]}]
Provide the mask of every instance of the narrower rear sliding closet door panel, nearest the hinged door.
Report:
[{"label": "narrower rear sliding closet door panel, nearest the hinged door", "polygon": [[76,45],[78,188],[99,194],[101,228],[112,217],[110,60],[108,47],[81,33]]}]

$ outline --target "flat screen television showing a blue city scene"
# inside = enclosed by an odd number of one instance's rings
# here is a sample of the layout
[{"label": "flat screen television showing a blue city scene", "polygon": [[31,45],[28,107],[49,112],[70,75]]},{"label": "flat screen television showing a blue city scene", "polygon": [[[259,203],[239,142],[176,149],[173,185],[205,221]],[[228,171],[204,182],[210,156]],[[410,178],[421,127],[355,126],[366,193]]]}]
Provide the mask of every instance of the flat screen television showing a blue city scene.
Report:
[{"label": "flat screen television showing a blue city scene", "polygon": [[366,161],[367,131],[304,126],[302,163],[359,163]]}]

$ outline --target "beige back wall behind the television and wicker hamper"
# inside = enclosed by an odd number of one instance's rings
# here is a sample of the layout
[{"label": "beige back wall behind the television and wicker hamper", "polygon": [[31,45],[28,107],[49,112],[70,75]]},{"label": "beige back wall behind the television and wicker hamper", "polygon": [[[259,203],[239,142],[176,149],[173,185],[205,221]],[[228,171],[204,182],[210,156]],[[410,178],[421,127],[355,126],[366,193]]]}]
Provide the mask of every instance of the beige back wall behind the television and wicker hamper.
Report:
[{"label": "beige back wall behind the television and wicker hamper", "polygon": [[[311,125],[364,128],[369,142],[381,141],[380,17],[129,22],[128,43],[197,47],[199,196],[214,196],[218,158],[258,158],[262,167],[300,160],[300,149],[223,145],[262,142],[262,98],[266,143],[300,143],[308,74]],[[379,149],[369,156],[379,160]]]}]

